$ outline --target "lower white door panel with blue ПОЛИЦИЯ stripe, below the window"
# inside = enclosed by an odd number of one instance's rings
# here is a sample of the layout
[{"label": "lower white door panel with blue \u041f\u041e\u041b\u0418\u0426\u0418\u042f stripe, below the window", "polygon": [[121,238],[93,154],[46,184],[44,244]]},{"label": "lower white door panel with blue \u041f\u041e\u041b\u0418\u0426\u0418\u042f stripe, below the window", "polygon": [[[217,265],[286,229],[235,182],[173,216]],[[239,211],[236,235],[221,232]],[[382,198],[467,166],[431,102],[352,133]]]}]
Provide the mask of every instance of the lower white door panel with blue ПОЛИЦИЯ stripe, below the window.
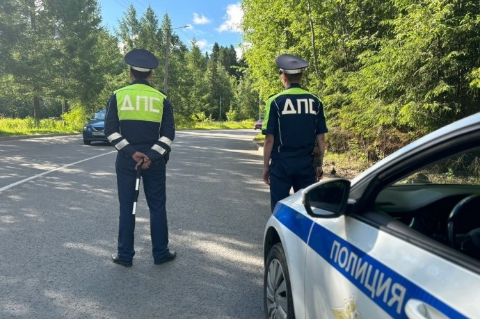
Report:
[{"label": "lower white door panel with blue \u041f\u041e\u041b\u0418\u0426\u0418\u042f stripe, below the window", "polygon": [[[305,278],[307,318],[476,318],[480,313],[474,302],[478,274],[408,237],[351,217],[314,224]],[[407,316],[407,311],[422,313],[422,307],[444,316]]]}]

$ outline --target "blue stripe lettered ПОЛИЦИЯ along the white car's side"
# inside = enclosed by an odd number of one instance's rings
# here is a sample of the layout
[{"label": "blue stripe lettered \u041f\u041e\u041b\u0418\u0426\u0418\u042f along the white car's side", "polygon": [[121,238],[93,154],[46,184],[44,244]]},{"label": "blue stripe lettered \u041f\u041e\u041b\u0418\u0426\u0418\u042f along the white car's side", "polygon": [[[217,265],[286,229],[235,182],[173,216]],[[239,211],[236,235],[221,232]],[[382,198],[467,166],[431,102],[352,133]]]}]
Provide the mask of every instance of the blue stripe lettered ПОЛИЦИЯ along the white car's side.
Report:
[{"label": "blue stripe lettered \u041f\u041e\u041b\u0418\u0426\u0418\u042f along the white car's side", "polygon": [[407,318],[410,299],[422,300],[449,318],[467,318],[325,227],[312,228],[313,221],[293,208],[278,203],[273,215],[305,243],[312,229],[308,246],[392,318]]}]

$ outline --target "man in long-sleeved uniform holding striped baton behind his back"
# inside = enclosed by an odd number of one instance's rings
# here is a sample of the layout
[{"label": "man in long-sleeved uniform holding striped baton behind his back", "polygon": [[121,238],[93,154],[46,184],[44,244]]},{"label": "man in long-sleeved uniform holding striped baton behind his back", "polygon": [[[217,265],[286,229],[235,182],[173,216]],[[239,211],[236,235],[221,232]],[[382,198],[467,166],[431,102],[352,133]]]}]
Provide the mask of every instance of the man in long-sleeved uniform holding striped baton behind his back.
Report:
[{"label": "man in long-sleeved uniform holding striped baton behind his back", "polygon": [[175,138],[173,108],[166,95],[152,88],[148,80],[159,65],[147,50],[134,49],[125,56],[130,65],[131,84],[116,90],[106,106],[105,135],[118,149],[117,172],[120,222],[118,252],[112,261],[125,267],[134,258],[136,169],[143,168],[143,189],[150,208],[150,234],[155,264],[175,259],[168,249],[166,213],[166,170],[170,145]]}]

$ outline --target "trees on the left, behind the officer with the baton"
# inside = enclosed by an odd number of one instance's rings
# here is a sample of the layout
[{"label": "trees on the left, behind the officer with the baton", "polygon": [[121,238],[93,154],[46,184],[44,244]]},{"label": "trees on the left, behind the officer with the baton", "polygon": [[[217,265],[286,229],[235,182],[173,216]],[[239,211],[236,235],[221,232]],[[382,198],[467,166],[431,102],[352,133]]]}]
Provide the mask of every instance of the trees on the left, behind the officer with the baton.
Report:
[{"label": "trees on the left, behind the officer with the baton", "polygon": [[129,82],[123,56],[143,48],[159,58],[152,85],[167,91],[177,121],[258,117],[258,93],[233,45],[215,43],[207,53],[195,39],[182,43],[168,15],[160,20],[151,7],[138,17],[129,6],[115,30],[102,26],[97,0],[2,0],[0,116],[40,119],[104,108],[113,90]]}]

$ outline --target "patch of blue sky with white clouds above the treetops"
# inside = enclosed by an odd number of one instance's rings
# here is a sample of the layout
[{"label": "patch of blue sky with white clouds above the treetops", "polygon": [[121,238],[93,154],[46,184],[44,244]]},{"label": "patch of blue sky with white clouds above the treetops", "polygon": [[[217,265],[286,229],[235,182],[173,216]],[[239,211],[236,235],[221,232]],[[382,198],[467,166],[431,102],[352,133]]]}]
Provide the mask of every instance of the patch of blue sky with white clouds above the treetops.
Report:
[{"label": "patch of blue sky with white clouds above the treetops", "polygon": [[104,26],[110,31],[118,28],[118,21],[130,4],[136,8],[138,19],[151,6],[159,23],[167,13],[173,28],[188,25],[188,28],[173,31],[186,45],[195,38],[203,52],[210,52],[211,46],[217,42],[223,47],[233,45],[240,55],[239,23],[243,13],[238,0],[99,0]]}]

